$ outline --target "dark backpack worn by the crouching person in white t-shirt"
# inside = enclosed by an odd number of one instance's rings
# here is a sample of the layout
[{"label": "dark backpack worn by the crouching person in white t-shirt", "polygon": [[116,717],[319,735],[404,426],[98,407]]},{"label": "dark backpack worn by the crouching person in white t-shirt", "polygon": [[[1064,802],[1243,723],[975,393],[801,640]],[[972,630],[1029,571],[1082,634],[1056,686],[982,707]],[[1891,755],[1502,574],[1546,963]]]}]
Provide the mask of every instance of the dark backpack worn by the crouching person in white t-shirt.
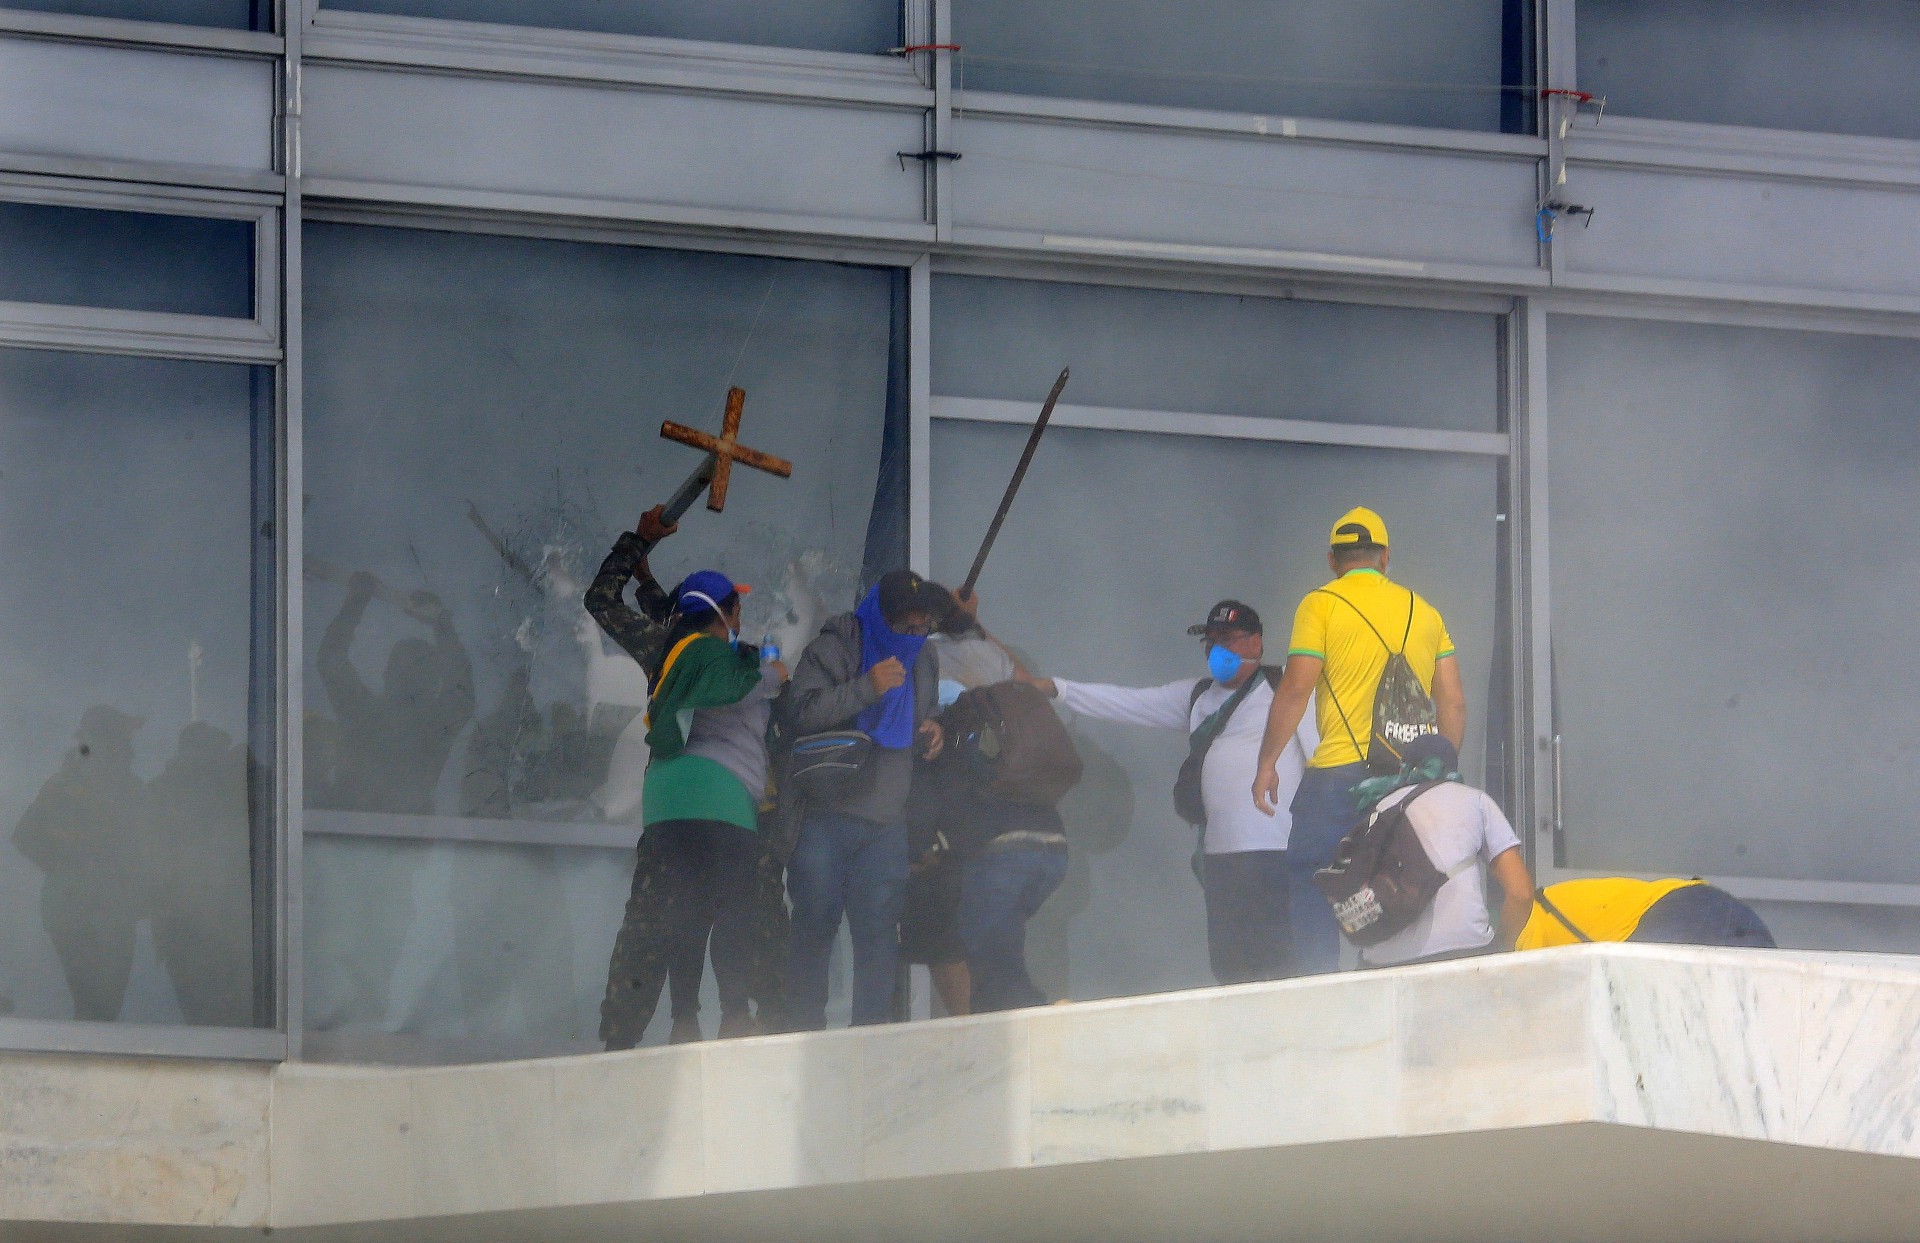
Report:
[{"label": "dark backpack worn by the crouching person in white t-shirt", "polygon": [[1392,807],[1375,807],[1359,828],[1340,838],[1332,863],[1313,872],[1340,932],[1361,949],[1413,924],[1440,886],[1478,863],[1475,855],[1453,872],[1442,872],[1407,820],[1413,799],[1444,784],[1421,782]]}]

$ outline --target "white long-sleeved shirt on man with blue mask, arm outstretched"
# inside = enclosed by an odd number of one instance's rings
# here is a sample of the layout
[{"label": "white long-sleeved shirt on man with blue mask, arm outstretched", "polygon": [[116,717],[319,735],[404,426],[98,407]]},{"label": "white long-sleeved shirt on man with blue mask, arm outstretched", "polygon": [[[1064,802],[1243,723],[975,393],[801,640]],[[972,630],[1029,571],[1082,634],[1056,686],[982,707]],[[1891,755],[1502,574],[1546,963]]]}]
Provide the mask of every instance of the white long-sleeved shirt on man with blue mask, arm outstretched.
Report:
[{"label": "white long-sleeved shirt on man with blue mask, arm outstretched", "polygon": [[[1254,690],[1248,692],[1240,707],[1213,747],[1206,753],[1200,768],[1200,801],[1206,803],[1206,849],[1208,855],[1231,855],[1235,851],[1284,851],[1286,840],[1294,832],[1294,818],[1286,811],[1300,786],[1308,755],[1319,745],[1313,728],[1313,709],[1308,707],[1300,719],[1300,728],[1281,753],[1281,809],[1267,815],[1254,805],[1254,772],[1260,768],[1260,743],[1267,734],[1267,709],[1273,707],[1273,688],[1256,674]],[[1208,686],[1198,703],[1194,697],[1198,678],[1179,678],[1165,686],[1104,686],[1096,682],[1068,682],[1054,678],[1060,690],[1060,703],[1085,717],[1100,720],[1121,720],[1127,724],[1154,724],[1164,730],[1179,730],[1192,736],[1200,722],[1213,715],[1233,694],[1217,682]],[[1167,774],[1167,797],[1171,797],[1173,774]]]}]

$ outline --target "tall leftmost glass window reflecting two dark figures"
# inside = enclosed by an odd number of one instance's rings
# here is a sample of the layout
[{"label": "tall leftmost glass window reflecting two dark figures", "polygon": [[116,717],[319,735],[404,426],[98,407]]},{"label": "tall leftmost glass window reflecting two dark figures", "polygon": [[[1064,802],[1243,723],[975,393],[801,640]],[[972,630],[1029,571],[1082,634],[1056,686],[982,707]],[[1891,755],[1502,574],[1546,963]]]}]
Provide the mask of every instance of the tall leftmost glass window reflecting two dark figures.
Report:
[{"label": "tall leftmost glass window reflecting two dark figures", "polygon": [[271,373],[0,350],[0,1012],[271,1026]]}]

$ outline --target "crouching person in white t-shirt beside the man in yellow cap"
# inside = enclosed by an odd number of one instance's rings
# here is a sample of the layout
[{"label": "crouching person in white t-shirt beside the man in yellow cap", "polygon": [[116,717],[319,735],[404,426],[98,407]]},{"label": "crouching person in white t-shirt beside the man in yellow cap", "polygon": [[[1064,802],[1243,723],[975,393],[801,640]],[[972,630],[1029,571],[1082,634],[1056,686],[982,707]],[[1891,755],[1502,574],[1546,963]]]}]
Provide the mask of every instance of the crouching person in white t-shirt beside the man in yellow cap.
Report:
[{"label": "crouching person in white t-shirt beside the man in yellow cap", "polygon": [[[1519,836],[1486,792],[1459,780],[1459,753],[1446,736],[1415,738],[1402,759],[1405,768],[1400,780],[1405,784],[1379,805],[1404,803],[1421,782],[1438,778],[1442,784],[1407,807],[1407,824],[1440,872],[1457,868],[1459,874],[1440,886],[1417,920],[1361,951],[1361,966],[1436,963],[1513,949],[1521,928],[1534,913],[1534,880],[1521,859]],[[1486,872],[1500,884],[1498,936],[1486,918]]]}]

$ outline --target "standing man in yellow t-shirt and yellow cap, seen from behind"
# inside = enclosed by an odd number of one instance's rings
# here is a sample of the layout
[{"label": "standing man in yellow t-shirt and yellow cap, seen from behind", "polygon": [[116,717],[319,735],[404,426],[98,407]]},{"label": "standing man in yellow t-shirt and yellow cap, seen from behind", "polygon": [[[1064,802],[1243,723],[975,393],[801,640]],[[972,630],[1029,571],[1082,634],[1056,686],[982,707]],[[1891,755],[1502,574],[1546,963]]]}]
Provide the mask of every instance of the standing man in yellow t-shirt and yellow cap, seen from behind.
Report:
[{"label": "standing man in yellow t-shirt and yellow cap, seen from behind", "polygon": [[[1279,809],[1275,765],[1300,719],[1319,695],[1319,747],[1292,799],[1294,832],[1286,845],[1294,918],[1294,963],[1304,974],[1340,964],[1340,926],[1313,886],[1313,872],[1332,863],[1334,847],[1357,822],[1348,792],[1367,778],[1367,761],[1386,768],[1394,740],[1375,740],[1373,699],[1394,655],[1404,655],[1421,690],[1432,695],[1434,724],[1455,747],[1467,734],[1467,695],[1453,659],[1453,638],[1440,613],[1386,578],[1386,523],[1371,509],[1350,509],[1332,526],[1327,567],[1332,582],[1308,592],[1294,611],[1286,672],[1267,711],[1254,803]],[[1411,742],[1404,738],[1400,742]],[[1373,755],[1375,749],[1380,755]],[[1392,765],[1398,768],[1398,765]]]}]

